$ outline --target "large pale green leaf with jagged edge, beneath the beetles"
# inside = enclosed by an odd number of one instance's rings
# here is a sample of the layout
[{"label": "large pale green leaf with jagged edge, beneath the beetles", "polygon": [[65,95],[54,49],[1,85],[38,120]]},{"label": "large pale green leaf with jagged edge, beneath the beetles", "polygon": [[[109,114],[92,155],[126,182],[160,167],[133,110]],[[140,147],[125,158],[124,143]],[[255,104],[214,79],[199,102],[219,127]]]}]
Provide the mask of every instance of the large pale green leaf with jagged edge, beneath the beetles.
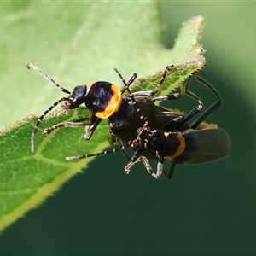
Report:
[{"label": "large pale green leaf with jagged edge, beneath the beetles", "polygon": [[[26,42],[26,45],[17,47],[23,49],[20,51],[21,58],[17,59],[17,63],[24,66],[24,70],[20,71],[22,75],[14,71],[10,77],[11,84],[19,86],[4,93],[9,102],[22,96],[22,104],[19,101],[14,105],[18,116],[29,113],[30,109],[42,113],[61,98],[61,91],[53,89],[38,74],[26,73],[26,63],[30,61],[40,68],[49,66],[49,75],[61,86],[73,84],[67,90],[72,90],[75,84],[84,84],[84,80],[87,83],[103,79],[121,84],[112,67],[119,67],[121,73],[127,76],[137,71],[139,79],[133,85],[133,91],[154,90],[164,68],[175,64],[176,68],[168,74],[161,94],[178,88],[191,73],[205,65],[203,50],[198,45],[204,24],[201,17],[186,22],[174,49],[166,50],[160,46],[156,3],[76,4],[77,9],[72,6],[72,14],[67,12],[71,8],[70,3],[24,3],[18,7],[11,3],[3,4],[3,9],[9,11],[2,13],[2,19],[7,24],[2,28],[2,34],[7,37],[4,42],[18,44],[14,41],[15,33],[8,33],[10,28],[15,27],[16,20],[19,20],[18,29],[24,31],[20,42]],[[49,33],[51,26],[59,29]],[[40,47],[34,38],[40,42]],[[34,56],[36,51],[38,57]],[[11,61],[9,55],[6,58],[7,62]],[[29,88],[23,84],[24,79],[20,79],[23,73],[29,78],[26,81],[30,84]],[[142,73],[148,76],[141,78]],[[44,86],[38,86],[38,83],[44,83]],[[9,106],[7,102],[3,103]],[[14,112],[9,111],[6,116],[10,113]],[[6,119],[5,113],[2,114],[2,119]],[[84,127],[60,129],[47,137],[42,135],[46,127],[79,117],[90,117],[90,113],[80,107],[67,115],[54,114],[44,120],[38,129],[34,154],[30,151],[30,141],[37,118],[30,116],[3,129],[0,137],[0,230],[37,207],[91,160],[66,161],[65,156],[96,153],[108,146],[107,121],[99,125],[90,141],[84,140]]]}]

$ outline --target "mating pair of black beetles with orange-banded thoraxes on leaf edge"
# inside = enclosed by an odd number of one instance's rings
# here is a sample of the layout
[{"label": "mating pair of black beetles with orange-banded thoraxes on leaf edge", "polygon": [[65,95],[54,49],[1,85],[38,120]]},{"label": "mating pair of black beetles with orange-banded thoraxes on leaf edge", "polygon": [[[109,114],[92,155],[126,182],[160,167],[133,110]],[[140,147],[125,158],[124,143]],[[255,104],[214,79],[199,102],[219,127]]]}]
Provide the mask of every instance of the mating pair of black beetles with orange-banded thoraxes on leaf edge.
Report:
[{"label": "mating pair of black beetles with orange-banded thoraxes on leaf edge", "polygon": [[[137,78],[137,74],[131,73],[131,76],[125,81],[117,69],[114,69],[123,82],[121,89],[114,84],[98,81],[94,84],[76,86],[72,93],[56,84],[53,79],[32,63],[27,64],[27,67],[34,69],[44,79],[68,95],[55,102],[39,117],[32,131],[32,152],[35,148],[34,141],[38,126],[47,113],[59,103],[66,113],[70,109],[79,108],[84,103],[90,110],[90,117],[56,124],[44,129],[44,134],[48,135],[51,131],[62,127],[86,126],[84,137],[90,140],[102,119],[108,119],[110,134],[118,143],[119,148],[97,154],[68,156],[66,160],[77,160],[120,150],[130,161],[125,166],[125,173],[129,173],[131,166],[142,161],[146,170],[153,177],[160,178],[164,173],[166,177],[172,178],[177,164],[200,164],[221,159],[228,154],[230,148],[228,134],[219,129],[218,125],[209,125],[203,122],[219,108],[221,98],[218,91],[197,73],[193,73],[183,82],[184,89],[181,92],[166,96],[154,96],[161,90],[161,85],[165,83],[167,74],[175,68],[173,65],[166,67],[154,90],[131,92],[130,87]],[[189,120],[203,108],[201,99],[189,90],[189,82],[193,76],[211,90],[218,100],[201,113],[192,125],[189,125]],[[124,96],[125,92],[128,92],[129,96]],[[198,105],[189,113],[174,112],[154,104],[159,101],[176,100],[184,94],[198,102]],[[135,153],[130,157],[125,148],[131,148]],[[156,171],[150,166],[148,159],[156,160]],[[168,172],[164,170],[166,160],[172,160]]]}]

